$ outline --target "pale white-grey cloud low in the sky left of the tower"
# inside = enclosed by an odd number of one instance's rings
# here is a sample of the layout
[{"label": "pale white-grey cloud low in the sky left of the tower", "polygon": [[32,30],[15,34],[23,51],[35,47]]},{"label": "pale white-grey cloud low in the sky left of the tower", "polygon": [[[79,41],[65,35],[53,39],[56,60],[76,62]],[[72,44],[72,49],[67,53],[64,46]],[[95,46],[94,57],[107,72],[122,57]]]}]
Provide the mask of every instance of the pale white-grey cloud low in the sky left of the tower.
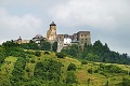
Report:
[{"label": "pale white-grey cloud low in the sky left of the tower", "polygon": [[30,39],[41,28],[42,20],[31,14],[12,16],[4,9],[0,9],[0,40]]}]

